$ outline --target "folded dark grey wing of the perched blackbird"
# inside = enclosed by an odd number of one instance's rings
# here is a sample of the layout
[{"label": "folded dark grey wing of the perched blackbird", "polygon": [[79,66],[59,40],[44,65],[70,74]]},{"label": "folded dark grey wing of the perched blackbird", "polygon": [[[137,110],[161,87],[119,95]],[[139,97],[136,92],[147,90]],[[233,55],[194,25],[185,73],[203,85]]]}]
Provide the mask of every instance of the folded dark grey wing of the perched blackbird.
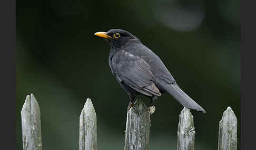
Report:
[{"label": "folded dark grey wing of the perched blackbird", "polygon": [[116,78],[129,85],[137,92],[145,95],[158,95],[161,93],[155,86],[154,75],[150,71],[150,65],[141,57],[134,56],[130,52],[120,50],[111,60],[116,71]]}]

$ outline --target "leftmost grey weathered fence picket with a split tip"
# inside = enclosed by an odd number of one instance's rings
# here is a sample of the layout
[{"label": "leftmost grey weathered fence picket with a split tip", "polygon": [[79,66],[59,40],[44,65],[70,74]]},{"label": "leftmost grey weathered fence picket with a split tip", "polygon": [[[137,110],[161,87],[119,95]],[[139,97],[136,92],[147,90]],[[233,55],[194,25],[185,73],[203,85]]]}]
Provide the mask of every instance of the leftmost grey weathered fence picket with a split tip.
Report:
[{"label": "leftmost grey weathered fence picket with a split tip", "polygon": [[24,150],[42,149],[40,115],[40,108],[34,95],[27,95],[21,111]]}]

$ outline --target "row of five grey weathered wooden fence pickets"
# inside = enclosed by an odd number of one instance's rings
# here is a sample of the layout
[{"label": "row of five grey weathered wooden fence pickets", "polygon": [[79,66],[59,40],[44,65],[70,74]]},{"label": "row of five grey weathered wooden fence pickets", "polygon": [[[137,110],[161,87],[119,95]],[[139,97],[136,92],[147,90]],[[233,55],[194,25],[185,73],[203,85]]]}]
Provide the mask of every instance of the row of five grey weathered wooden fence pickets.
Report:
[{"label": "row of five grey weathered wooden fence pickets", "polygon": [[[141,100],[127,112],[125,150],[149,149],[150,111]],[[24,150],[42,149],[40,108],[33,94],[27,95],[21,111]],[[91,99],[87,99],[80,115],[80,150],[97,149],[96,112]],[[195,128],[189,109],[181,111],[178,124],[178,150],[194,149]],[[237,117],[230,107],[219,122],[219,150],[237,149]]]}]

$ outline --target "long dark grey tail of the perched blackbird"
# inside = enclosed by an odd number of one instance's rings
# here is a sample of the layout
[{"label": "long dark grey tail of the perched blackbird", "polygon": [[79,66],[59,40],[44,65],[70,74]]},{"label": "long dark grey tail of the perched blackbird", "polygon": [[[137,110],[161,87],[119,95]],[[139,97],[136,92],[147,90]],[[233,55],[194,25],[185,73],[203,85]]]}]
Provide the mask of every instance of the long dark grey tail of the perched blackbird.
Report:
[{"label": "long dark grey tail of the perched blackbird", "polygon": [[179,101],[185,108],[201,111],[205,110],[195,101],[193,101],[180,87],[176,84],[165,84],[164,89],[170,93],[177,101]]}]

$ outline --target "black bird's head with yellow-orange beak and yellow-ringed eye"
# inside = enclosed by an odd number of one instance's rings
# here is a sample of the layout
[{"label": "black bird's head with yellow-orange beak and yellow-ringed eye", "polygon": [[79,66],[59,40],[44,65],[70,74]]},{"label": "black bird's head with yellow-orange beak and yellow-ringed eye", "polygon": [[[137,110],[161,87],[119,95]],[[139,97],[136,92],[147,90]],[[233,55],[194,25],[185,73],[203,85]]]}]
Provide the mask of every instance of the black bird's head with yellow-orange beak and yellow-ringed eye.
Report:
[{"label": "black bird's head with yellow-orange beak and yellow-ringed eye", "polygon": [[129,41],[140,41],[131,33],[122,29],[111,29],[107,32],[97,32],[94,35],[105,38],[111,47],[120,47]]}]

